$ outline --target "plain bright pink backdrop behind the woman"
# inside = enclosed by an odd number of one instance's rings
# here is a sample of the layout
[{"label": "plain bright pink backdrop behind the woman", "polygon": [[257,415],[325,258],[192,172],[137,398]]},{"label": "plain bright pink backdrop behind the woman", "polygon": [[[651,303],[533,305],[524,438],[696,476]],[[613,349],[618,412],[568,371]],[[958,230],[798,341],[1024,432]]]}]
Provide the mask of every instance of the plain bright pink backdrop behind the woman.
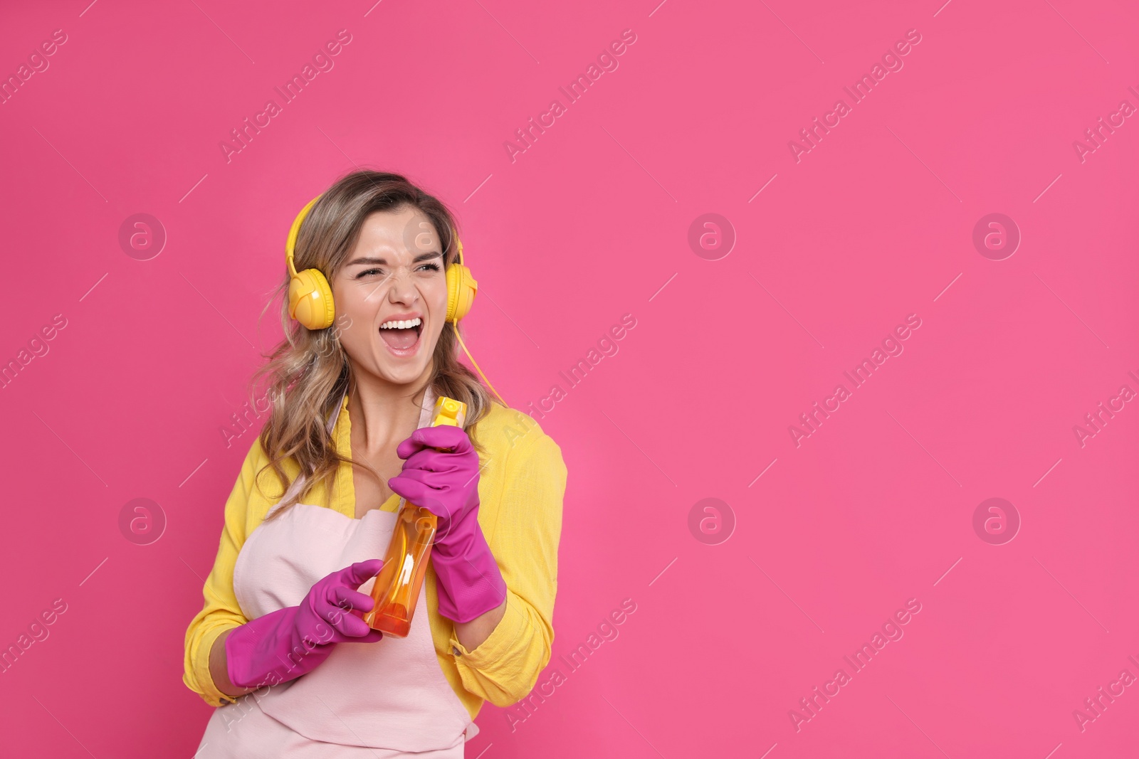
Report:
[{"label": "plain bright pink backdrop behind the woman", "polygon": [[[66,319],[0,391],[0,644],[67,604],[0,675],[5,753],[192,754],[211,709],[182,636],[255,434],[220,430],[279,336],[257,316],[289,222],[357,164],[457,211],[469,345],[516,407],[637,320],[540,419],[570,478],[539,683],[565,679],[528,716],[486,704],[467,756],[1134,752],[1139,687],[1073,716],[1139,676],[1139,404],[1073,431],[1139,391],[1139,118],[1073,148],[1139,106],[1132,3],[87,2],[0,23],[3,76],[67,35],[0,106],[0,360]],[[227,163],[219,142],[342,28],[334,68]],[[511,162],[626,28],[618,68]],[[788,141],[911,28],[903,68],[796,163]],[[149,261],[118,245],[136,213],[167,234]],[[737,237],[718,261],[688,244],[705,213]],[[1003,261],[972,241],[990,213],[1023,236]],[[904,352],[796,447],[788,426],[908,314]],[[138,497],[166,519],[149,545],[120,531]],[[710,497],[713,538],[735,520],[714,545],[689,529]],[[991,497],[1022,521],[1002,545],[973,527]]]}]

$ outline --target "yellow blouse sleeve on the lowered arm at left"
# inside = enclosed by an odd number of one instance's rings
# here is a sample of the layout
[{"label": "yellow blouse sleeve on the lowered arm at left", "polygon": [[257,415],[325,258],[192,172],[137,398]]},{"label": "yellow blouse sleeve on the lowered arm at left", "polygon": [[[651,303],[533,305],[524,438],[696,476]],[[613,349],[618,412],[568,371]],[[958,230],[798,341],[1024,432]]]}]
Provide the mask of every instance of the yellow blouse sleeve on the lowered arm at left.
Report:
[{"label": "yellow blouse sleeve on the lowered arm at left", "polygon": [[231,703],[233,700],[214,685],[210,675],[210,650],[224,630],[249,621],[241,614],[241,608],[233,595],[233,564],[245,543],[246,512],[254,479],[257,470],[267,461],[261,442],[254,439],[245,463],[241,464],[241,472],[233,485],[233,490],[226,502],[226,523],[221,530],[218,556],[202,588],[205,605],[186,630],[182,682],[212,707]]}]

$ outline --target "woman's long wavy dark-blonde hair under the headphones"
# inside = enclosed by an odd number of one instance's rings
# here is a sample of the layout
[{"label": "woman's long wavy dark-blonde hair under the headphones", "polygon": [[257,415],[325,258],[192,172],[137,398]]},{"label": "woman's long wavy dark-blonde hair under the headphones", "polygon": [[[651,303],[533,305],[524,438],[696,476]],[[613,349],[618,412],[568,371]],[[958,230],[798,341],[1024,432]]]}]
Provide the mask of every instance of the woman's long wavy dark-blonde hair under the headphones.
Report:
[{"label": "woman's long wavy dark-blonde hair under the headphones", "polygon": [[[312,206],[297,233],[294,261],[297,271],[319,269],[331,283],[347,261],[360,229],[369,214],[394,212],[404,206],[421,211],[432,222],[443,244],[444,265],[457,261],[458,248],[452,229],[457,228],[454,216],[437,198],[412,184],[400,174],[361,170],[338,179]],[[345,390],[354,387],[352,368],[347,354],[339,341],[341,317],[330,327],[310,330],[288,315],[288,270],[281,261],[284,279],[262,310],[262,316],[277,298],[281,299],[281,328],[284,339],[251,380],[251,398],[263,379],[268,379],[265,396],[271,403],[271,412],[259,439],[269,456],[269,463],[257,471],[272,469],[282,489],[289,486],[288,476],[281,462],[293,459],[308,479],[305,492],[318,484],[330,485],[341,462],[358,464],[383,479],[366,462],[351,456],[342,456],[328,432],[327,420],[331,415]],[[434,373],[416,394],[431,386],[436,396],[448,396],[467,404],[465,429],[475,448],[483,447],[475,439],[474,426],[486,415],[494,401],[478,377],[459,363],[458,341],[453,328],[444,324],[435,345]],[[497,403],[497,401],[494,401]],[[501,404],[500,404],[501,405]],[[260,484],[259,484],[260,489]],[[297,503],[303,494],[294,494],[269,517],[284,513]]]}]

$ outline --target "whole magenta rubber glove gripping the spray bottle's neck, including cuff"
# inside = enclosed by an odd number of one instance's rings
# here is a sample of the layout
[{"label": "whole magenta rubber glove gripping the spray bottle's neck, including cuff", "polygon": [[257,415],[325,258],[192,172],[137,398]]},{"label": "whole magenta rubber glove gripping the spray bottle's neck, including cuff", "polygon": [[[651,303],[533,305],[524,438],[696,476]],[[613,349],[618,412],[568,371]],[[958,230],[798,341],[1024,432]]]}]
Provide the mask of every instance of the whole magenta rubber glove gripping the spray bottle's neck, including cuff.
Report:
[{"label": "whole magenta rubber glove gripping the spray bottle's neck, including cuff", "polygon": [[431,559],[439,611],[469,622],[506,599],[506,580],[478,526],[478,452],[461,428],[440,426],[420,427],[395,454],[403,471],[387,486],[439,518]]}]

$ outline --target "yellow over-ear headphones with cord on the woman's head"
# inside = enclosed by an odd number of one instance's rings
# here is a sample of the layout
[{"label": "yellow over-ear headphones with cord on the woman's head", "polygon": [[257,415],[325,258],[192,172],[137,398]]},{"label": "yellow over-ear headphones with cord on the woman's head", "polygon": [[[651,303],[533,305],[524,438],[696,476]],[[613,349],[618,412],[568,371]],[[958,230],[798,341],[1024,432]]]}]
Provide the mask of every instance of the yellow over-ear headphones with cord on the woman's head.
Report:
[{"label": "yellow over-ear headphones with cord on the woman's head", "polygon": [[[288,239],[285,242],[285,263],[288,265],[289,273],[288,315],[311,330],[331,327],[336,316],[333,289],[328,286],[328,279],[323,272],[319,269],[305,269],[302,272],[297,272],[296,264],[293,262],[296,238],[301,232],[301,223],[309,215],[312,206],[316,205],[320,197],[318,195],[310,200],[301,209],[301,213],[296,215],[296,218],[293,220],[293,226],[288,231]],[[454,236],[456,247],[459,249],[459,262],[452,263],[446,267],[445,321],[450,322],[451,327],[454,328],[454,337],[459,339],[459,345],[462,346],[464,353],[467,354],[470,363],[478,371],[478,376],[486,382],[486,387],[498,396],[499,401],[502,401],[502,396],[499,395],[494,386],[483,374],[483,370],[478,368],[475,357],[470,355],[470,350],[467,350],[467,344],[462,341],[462,336],[459,335],[459,320],[470,312],[470,306],[475,302],[475,294],[478,292],[478,282],[475,281],[470,270],[462,263],[462,240],[459,239],[458,231],[451,228],[451,232]],[[502,401],[502,405],[507,405],[506,401]]]}]

